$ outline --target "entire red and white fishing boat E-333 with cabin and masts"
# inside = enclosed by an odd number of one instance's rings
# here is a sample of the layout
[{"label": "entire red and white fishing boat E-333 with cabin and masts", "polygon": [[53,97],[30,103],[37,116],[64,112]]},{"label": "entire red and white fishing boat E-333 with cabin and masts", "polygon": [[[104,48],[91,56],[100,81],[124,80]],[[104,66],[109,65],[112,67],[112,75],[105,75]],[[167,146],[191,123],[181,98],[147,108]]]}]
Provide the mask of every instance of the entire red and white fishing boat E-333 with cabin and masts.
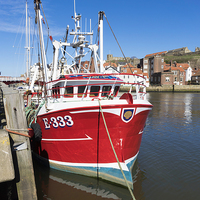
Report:
[{"label": "entire red and white fishing boat E-333 with cabin and masts", "polygon": [[[35,1],[35,8],[42,41],[40,1]],[[100,44],[103,15],[99,12]],[[32,149],[52,168],[127,186],[124,174],[128,185],[133,188],[131,168],[139,153],[145,122],[152,109],[151,103],[146,100],[145,78],[129,74],[136,80],[131,84],[136,92],[132,95],[130,88],[119,97],[120,85],[126,84],[120,76],[125,74],[105,74],[102,71],[102,49],[100,47],[101,56],[98,57],[98,45],[85,40],[93,33],[81,32],[80,19],[81,15],[75,12],[75,29],[70,33],[74,35],[73,42],[53,42],[51,80],[45,74],[47,65],[41,42],[46,88],[35,116],[31,115],[32,118],[28,119],[34,131]],[[57,69],[62,71],[66,61],[63,54],[59,62],[58,52],[60,49],[66,51],[66,47],[74,48],[74,62],[67,65],[67,74],[58,74]],[[85,48],[92,52],[95,73],[81,73],[80,63],[85,56]],[[137,77],[142,82],[138,83]]]}]

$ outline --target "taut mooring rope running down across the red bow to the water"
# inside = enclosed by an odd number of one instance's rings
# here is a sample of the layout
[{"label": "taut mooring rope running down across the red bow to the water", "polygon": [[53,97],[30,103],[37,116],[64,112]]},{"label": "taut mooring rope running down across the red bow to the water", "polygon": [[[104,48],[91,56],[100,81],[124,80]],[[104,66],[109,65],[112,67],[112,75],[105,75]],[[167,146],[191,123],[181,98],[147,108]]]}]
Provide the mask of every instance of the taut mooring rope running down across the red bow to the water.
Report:
[{"label": "taut mooring rope running down across the red bow to the water", "polygon": [[134,194],[133,194],[133,192],[132,192],[132,190],[131,190],[131,188],[130,188],[130,186],[129,186],[129,184],[128,184],[128,181],[127,181],[127,179],[126,179],[126,176],[125,176],[125,174],[124,174],[124,172],[123,172],[123,169],[122,169],[122,167],[121,167],[121,164],[120,164],[120,162],[119,162],[119,159],[118,159],[118,157],[117,157],[115,148],[114,148],[114,146],[113,146],[113,143],[112,143],[112,140],[111,140],[111,137],[110,137],[110,133],[109,133],[109,131],[108,131],[108,127],[107,127],[107,124],[106,124],[106,120],[105,120],[105,118],[104,118],[104,114],[103,114],[103,110],[102,110],[102,107],[101,107],[100,100],[98,100],[98,101],[99,101],[99,108],[100,108],[100,111],[101,111],[101,115],[102,115],[102,118],[103,118],[103,122],[104,122],[104,125],[105,125],[105,128],[106,128],[106,132],[107,132],[107,135],[108,135],[108,138],[109,138],[110,145],[111,145],[111,147],[112,147],[113,153],[114,153],[114,155],[115,155],[115,158],[116,158],[116,160],[117,160],[117,163],[118,163],[118,165],[119,165],[119,168],[120,168],[120,170],[121,170],[121,173],[122,173],[122,175],[123,175],[123,177],[124,177],[124,180],[125,180],[125,182],[126,182],[126,185],[127,185],[128,189],[129,189],[129,192],[130,192],[130,194],[131,194],[133,200],[136,200],[136,198],[134,197]]}]

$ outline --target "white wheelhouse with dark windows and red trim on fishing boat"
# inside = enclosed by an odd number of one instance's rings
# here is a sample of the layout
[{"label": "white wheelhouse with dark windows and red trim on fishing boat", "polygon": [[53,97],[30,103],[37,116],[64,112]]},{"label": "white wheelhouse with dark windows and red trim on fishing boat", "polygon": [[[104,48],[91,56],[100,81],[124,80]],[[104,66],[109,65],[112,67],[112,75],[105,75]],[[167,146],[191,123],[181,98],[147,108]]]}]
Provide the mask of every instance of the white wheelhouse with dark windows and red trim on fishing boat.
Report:
[{"label": "white wheelhouse with dark windows and red trim on fishing boat", "polygon": [[116,97],[123,81],[108,75],[65,75],[52,82],[51,97],[95,99]]}]

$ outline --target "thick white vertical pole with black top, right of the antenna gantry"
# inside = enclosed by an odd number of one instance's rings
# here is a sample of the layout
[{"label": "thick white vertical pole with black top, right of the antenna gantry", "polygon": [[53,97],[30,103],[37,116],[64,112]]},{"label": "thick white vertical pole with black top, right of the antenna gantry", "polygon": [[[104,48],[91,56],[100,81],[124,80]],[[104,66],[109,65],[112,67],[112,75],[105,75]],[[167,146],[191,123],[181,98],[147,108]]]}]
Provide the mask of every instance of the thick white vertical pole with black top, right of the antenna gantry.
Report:
[{"label": "thick white vertical pole with black top, right of the antenna gantry", "polygon": [[99,28],[100,28],[100,73],[104,71],[103,68],[103,15],[104,12],[99,12]]}]

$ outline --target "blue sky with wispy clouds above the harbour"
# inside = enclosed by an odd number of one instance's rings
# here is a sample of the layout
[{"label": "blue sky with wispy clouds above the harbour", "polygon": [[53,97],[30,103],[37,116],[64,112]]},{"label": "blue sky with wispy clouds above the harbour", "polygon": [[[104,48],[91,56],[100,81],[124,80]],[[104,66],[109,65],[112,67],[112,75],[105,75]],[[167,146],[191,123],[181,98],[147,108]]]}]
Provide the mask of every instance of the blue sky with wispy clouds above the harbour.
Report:
[{"label": "blue sky with wispy clouds above the harbour", "polygon": [[[0,0],[0,71],[2,76],[25,73],[25,0]],[[42,0],[50,35],[63,39],[66,26],[73,29],[73,0]],[[31,26],[34,30],[33,0],[28,0]],[[159,51],[200,47],[199,0],[76,0],[76,12],[82,15],[89,29],[92,20],[97,29],[98,12],[104,11],[125,56],[143,58]],[[47,38],[44,27],[45,38]],[[94,41],[96,34],[94,35]],[[69,38],[70,39],[70,38]],[[71,38],[72,39],[72,38]],[[14,46],[14,47],[13,47]],[[47,61],[52,62],[52,44],[48,45]],[[104,59],[107,54],[122,53],[104,20]],[[32,63],[37,62],[37,46]]]}]

